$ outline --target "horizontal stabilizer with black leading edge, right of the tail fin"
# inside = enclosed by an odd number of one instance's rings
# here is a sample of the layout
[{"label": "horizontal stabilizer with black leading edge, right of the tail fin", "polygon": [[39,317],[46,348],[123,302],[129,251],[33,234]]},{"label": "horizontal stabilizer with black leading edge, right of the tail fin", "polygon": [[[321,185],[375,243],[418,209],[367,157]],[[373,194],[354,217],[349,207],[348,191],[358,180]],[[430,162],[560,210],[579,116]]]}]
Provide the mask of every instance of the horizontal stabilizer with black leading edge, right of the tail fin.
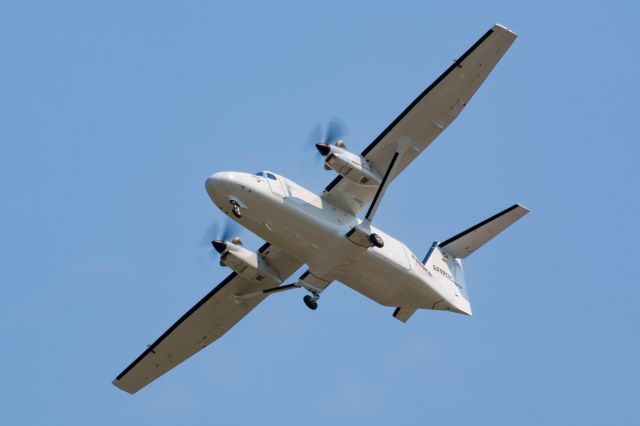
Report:
[{"label": "horizontal stabilizer with black leading edge, right of the tail fin", "polygon": [[451,256],[464,259],[527,213],[526,207],[514,204],[438,246]]}]

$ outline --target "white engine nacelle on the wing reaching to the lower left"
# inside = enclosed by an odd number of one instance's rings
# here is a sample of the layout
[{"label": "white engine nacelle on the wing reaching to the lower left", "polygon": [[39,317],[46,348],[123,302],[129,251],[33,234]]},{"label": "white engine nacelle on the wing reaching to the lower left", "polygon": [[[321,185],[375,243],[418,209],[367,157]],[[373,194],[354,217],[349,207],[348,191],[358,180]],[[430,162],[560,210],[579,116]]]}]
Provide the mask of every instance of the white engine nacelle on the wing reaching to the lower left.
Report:
[{"label": "white engine nacelle on the wing reaching to the lower left", "polygon": [[282,280],[278,274],[263,259],[262,255],[246,248],[227,244],[226,250],[220,256],[220,264],[233,269],[238,275],[256,283],[270,280],[274,287]]}]

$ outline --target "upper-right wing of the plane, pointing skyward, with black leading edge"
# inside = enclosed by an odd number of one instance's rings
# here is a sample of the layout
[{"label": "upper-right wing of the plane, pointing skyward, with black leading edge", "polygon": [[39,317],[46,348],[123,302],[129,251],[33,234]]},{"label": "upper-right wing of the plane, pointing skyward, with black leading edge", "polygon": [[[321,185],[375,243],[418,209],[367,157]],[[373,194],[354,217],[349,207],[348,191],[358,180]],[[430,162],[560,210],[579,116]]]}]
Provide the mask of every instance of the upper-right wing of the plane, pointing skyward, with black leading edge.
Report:
[{"label": "upper-right wing of the plane, pointing skyward, with black leading edge", "polygon": [[[515,39],[507,28],[494,25],[362,151],[382,176],[400,147],[407,148],[387,185],[460,114]],[[376,187],[338,176],[325,188],[322,198],[358,214],[372,202],[376,191]]]}]

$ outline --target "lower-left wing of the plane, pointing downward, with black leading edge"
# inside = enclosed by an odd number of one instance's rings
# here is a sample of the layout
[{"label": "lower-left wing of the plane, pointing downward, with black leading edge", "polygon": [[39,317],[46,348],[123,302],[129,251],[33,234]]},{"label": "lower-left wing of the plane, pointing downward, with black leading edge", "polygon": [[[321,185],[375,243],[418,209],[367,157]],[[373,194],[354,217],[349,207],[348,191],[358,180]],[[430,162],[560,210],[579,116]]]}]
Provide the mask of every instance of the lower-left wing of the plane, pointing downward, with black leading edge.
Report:
[{"label": "lower-left wing of the plane, pointing downward, with black leading edge", "polygon": [[[264,244],[259,251],[283,280],[302,265],[269,243]],[[268,283],[258,284],[232,273],[125,368],[113,384],[129,393],[139,391],[222,337],[267,297],[259,295],[234,299],[234,295],[265,290],[269,286]]]}]

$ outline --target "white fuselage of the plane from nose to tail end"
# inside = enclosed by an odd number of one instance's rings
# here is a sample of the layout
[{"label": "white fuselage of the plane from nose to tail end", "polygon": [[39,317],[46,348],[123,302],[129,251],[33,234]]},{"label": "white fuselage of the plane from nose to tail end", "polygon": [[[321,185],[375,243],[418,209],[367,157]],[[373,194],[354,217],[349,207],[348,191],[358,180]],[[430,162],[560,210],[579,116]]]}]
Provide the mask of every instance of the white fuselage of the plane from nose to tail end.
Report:
[{"label": "white fuselage of the plane from nose to tail end", "polygon": [[[229,217],[309,267],[385,306],[470,313],[458,287],[429,271],[406,247],[371,226],[384,247],[362,247],[345,235],[361,222],[282,176],[221,172],[206,182],[209,196]],[[231,214],[239,204],[242,217]]]}]

